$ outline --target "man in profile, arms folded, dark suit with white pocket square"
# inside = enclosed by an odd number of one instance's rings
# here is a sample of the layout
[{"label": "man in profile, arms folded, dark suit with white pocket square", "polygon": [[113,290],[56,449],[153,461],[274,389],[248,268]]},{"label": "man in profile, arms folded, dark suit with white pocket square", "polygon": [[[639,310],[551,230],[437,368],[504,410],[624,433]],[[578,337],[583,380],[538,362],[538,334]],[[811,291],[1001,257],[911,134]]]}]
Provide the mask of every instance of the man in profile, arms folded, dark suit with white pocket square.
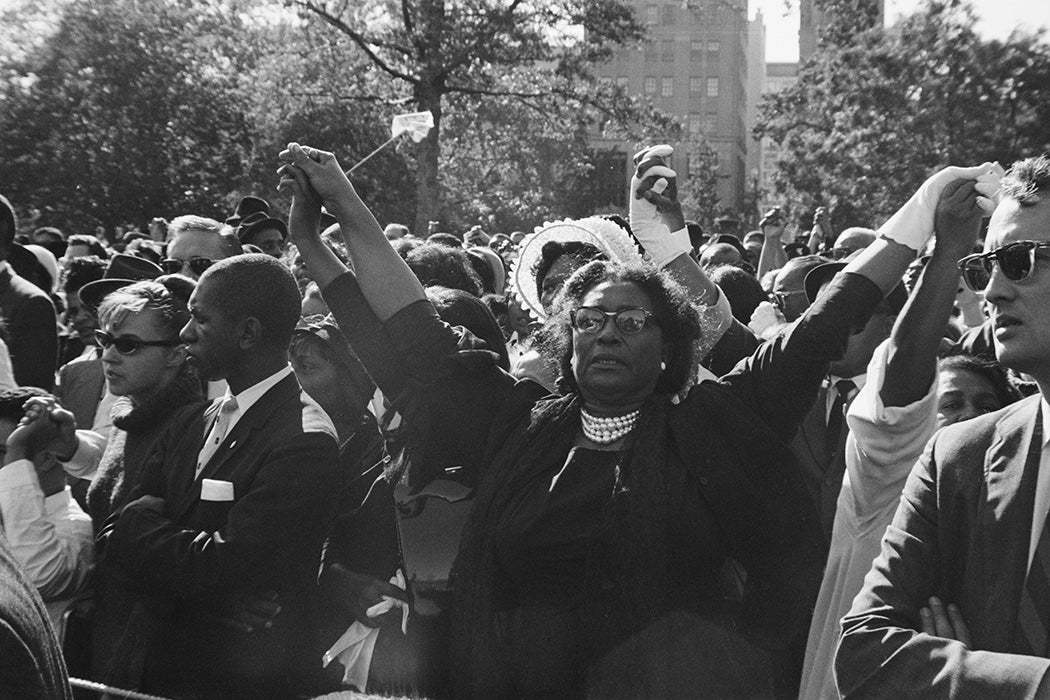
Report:
[{"label": "man in profile, arms folded, dark suit with white pocket square", "polygon": [[[298,288],[280,261],[238,255],[205,271],[189,310],[191,362],[229,389],[158,439],[99,535],[103,566],[150,601],[138,690],[294,697],[320,673],[313,604],[343,479],[335,427],[288,364]],[[265,621],[259,602],[276,603]]]}]

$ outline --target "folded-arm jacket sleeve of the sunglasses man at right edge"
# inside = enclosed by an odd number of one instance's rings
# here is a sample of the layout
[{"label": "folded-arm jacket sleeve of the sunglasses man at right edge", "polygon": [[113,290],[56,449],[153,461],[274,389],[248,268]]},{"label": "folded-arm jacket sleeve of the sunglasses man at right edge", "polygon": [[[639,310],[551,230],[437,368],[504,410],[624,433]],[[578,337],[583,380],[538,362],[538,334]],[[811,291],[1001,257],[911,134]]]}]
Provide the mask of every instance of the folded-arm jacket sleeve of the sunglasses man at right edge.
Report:
[{"label": "folded-arm jacket sleeve of the sunglasses man at right edge", "polygon": [[1050,660],[974,651],[919,632],[919,610],[938,594],[943,566],[939,533],[938,440],[908,476],[882,553],[842,618],[835,659],[847,698],[1032,698]]}]

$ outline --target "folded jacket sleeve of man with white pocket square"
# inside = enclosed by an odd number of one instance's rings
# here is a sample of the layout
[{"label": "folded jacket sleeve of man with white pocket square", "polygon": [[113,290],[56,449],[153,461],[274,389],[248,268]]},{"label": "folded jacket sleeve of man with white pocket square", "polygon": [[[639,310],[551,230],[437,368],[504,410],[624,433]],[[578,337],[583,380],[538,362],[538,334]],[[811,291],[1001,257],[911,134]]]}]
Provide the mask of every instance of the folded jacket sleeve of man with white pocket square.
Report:
[{"label": "folded jacket sleeve of man with white pocket square", "polygon": [[[307,432],[264,459],[216,532],[183,529],[167,512],[129,504],[109,528],[107,566],[150,588],[208,598],[272,586],[302,548],[319,554],[341,483],[335,441]],[[143,486],[148,492],[148,480]]]}]

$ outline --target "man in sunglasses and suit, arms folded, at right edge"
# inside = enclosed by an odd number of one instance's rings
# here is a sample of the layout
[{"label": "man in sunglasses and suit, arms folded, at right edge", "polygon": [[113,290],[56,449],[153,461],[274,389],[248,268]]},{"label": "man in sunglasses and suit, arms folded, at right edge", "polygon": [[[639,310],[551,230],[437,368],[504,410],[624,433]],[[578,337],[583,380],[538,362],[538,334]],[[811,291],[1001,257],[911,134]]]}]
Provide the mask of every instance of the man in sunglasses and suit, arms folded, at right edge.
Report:
[{"label": "man in sunglasses and suit, arms folded, at right edge", "polygon": [[1050,697],[1050,158],[1014,164],[960,267],[1000,361],[1040,393],[926,446],[842,620],[847,697]]}]

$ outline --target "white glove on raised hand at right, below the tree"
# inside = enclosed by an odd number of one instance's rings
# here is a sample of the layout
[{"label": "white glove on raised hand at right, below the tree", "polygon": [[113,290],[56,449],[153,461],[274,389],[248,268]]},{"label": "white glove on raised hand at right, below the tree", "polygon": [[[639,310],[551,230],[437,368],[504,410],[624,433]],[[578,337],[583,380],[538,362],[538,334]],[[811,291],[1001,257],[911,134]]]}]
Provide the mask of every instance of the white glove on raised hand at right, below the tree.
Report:
[{"label": "white glove on raised hand at right, below the tree", "polygon": [[[994,208],[994,204],[991,204],[992,197],[999,190],[998,179],[993,186],[992,176],[1002,172],[1003,168],[998,163],[984,163],[971,168],[951,166],[941,170],[923,183],[919,191],[879,228],[879,235],[907,246],[917,253],[922,251],[926,241],[933,235],[937,203],[941,198],[941,192],[949,183],[957,179],[976,181],[978,191],[983,195],[979,204],[985,211],[990,211],[988,207]],[[981,179],[982,175],[985,176],[984,181]]]}]

